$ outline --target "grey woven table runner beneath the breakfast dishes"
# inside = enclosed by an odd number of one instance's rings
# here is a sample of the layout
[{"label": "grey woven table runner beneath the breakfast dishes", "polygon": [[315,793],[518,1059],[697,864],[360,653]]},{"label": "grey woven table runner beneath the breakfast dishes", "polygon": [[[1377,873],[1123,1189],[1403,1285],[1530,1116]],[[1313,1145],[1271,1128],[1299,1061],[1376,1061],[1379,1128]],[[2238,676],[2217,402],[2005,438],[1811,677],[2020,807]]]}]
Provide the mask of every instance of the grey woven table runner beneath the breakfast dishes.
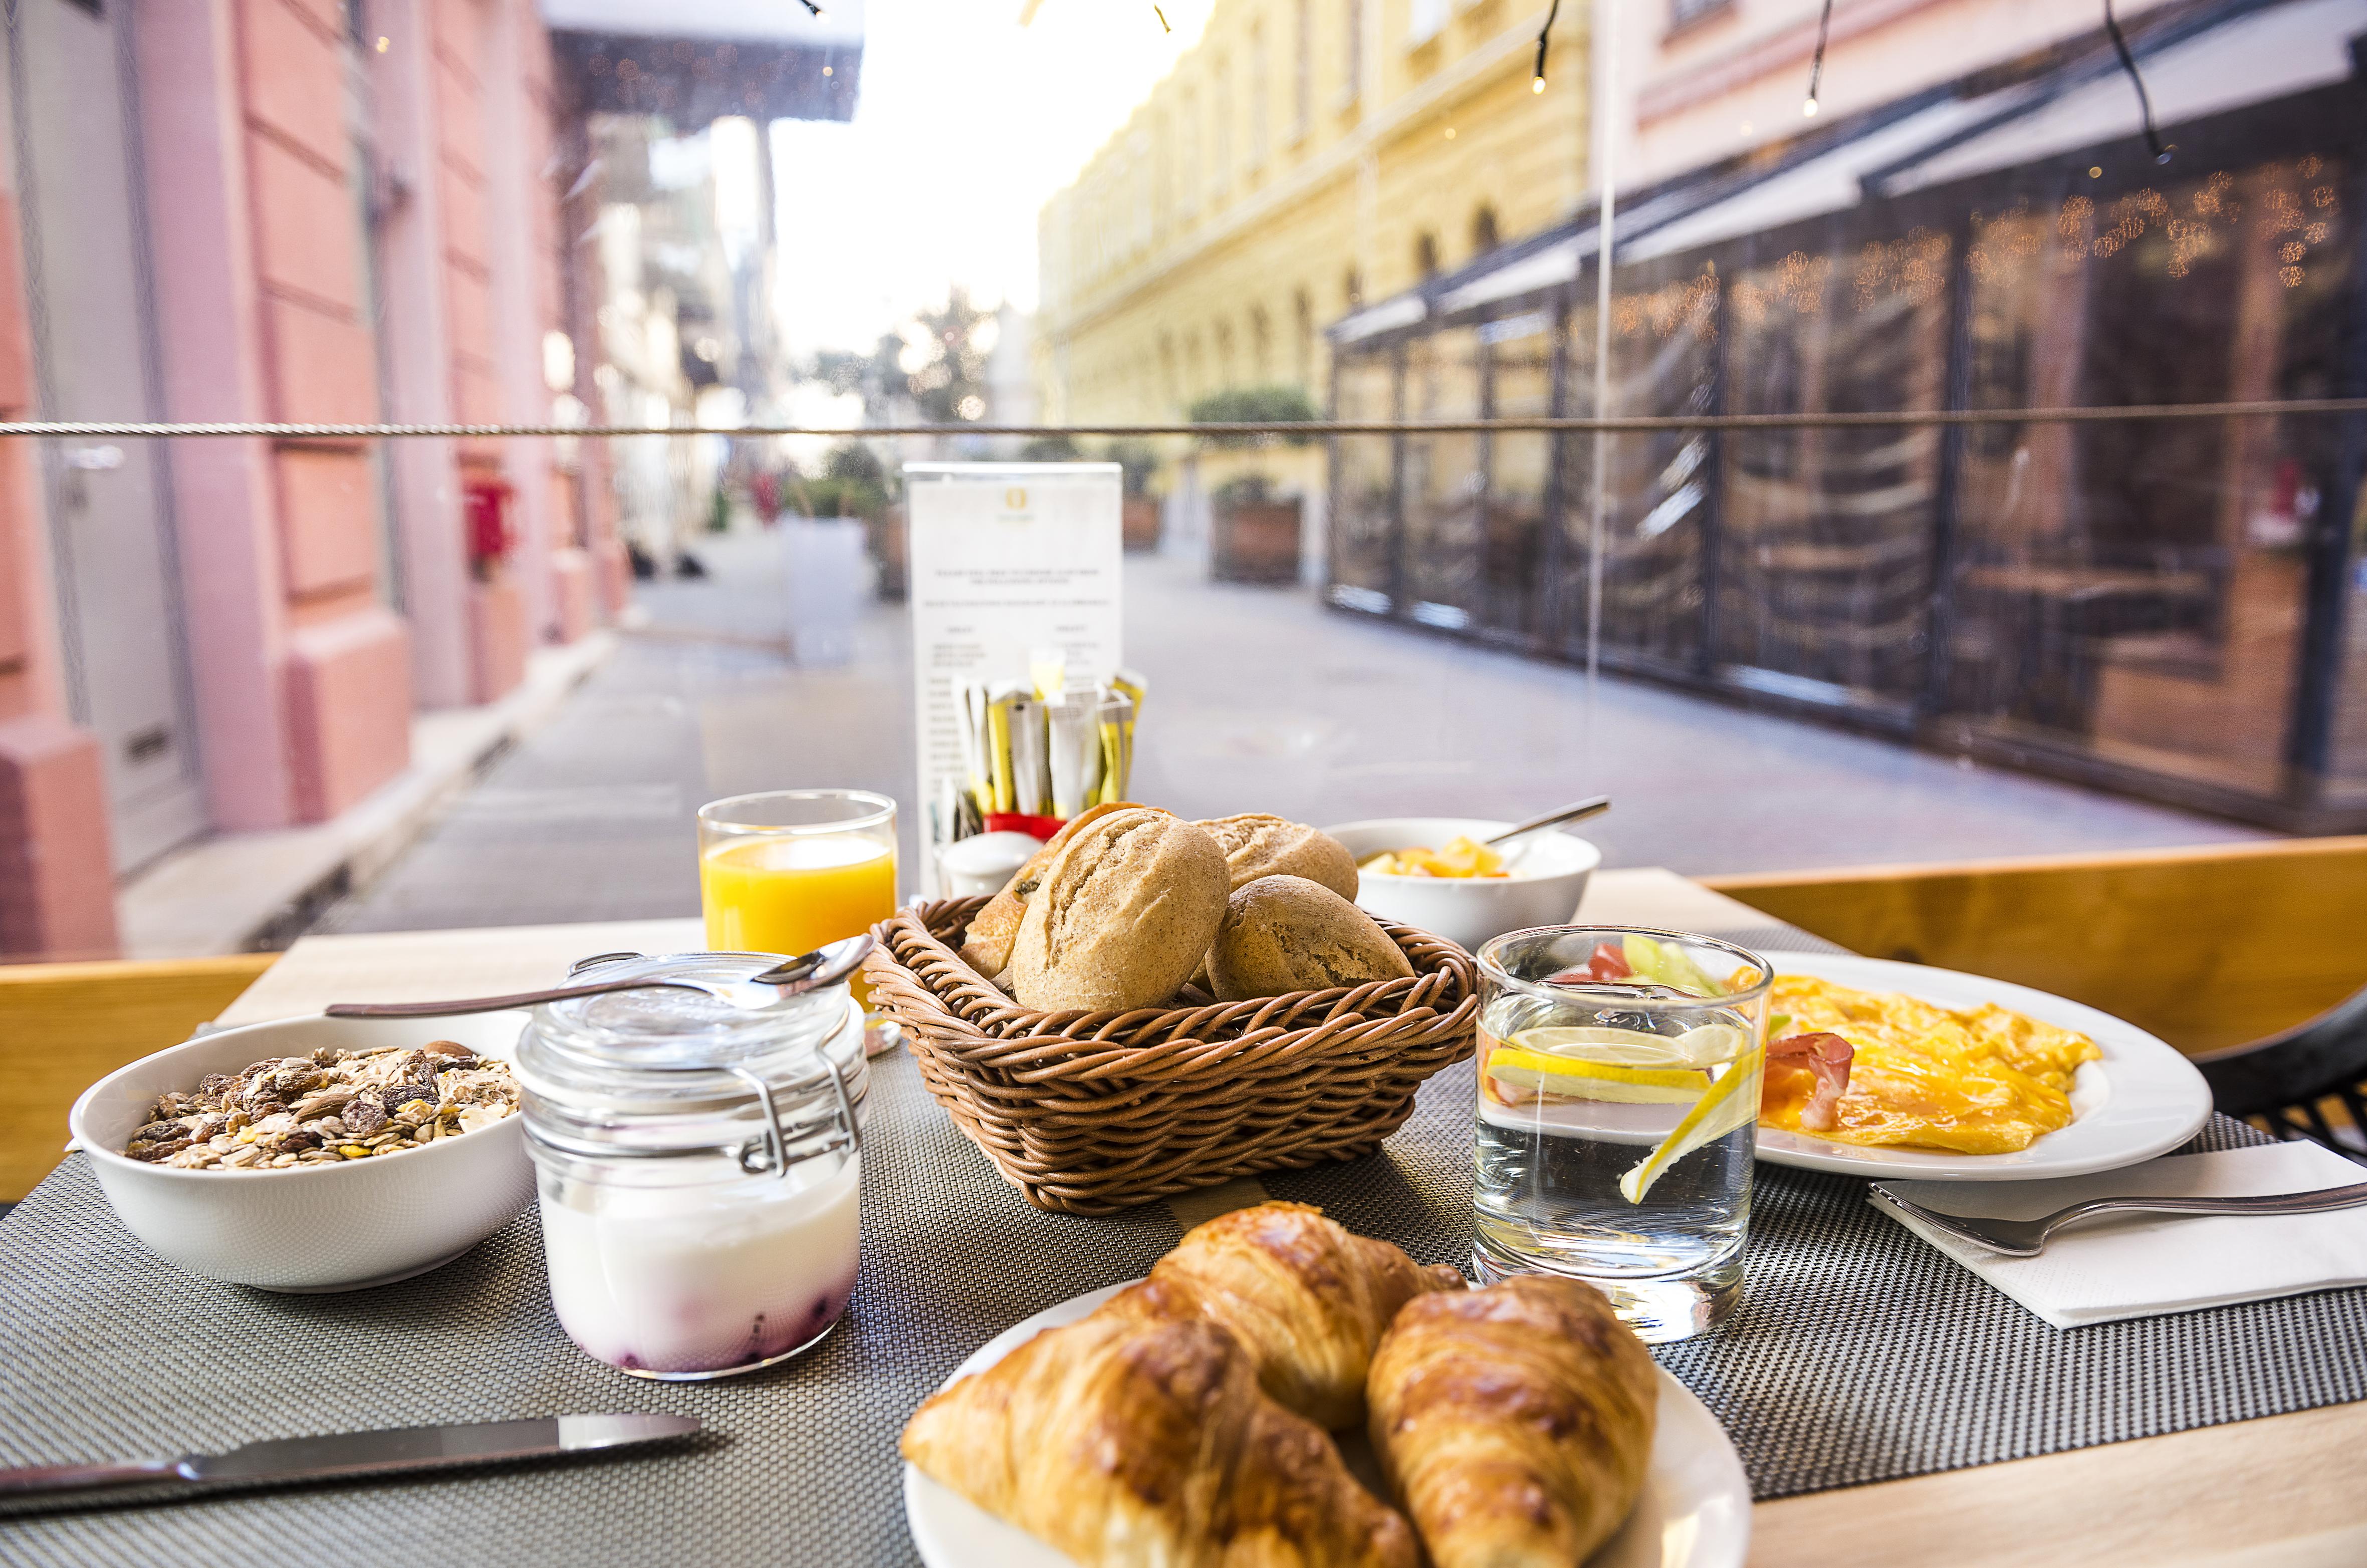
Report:
[{"label": "grey woven table runner beneath the breakfast dishes", "polygon": [[[1446,1071],[1382,1154],[1266,1187],[1463,1263],[1470,1093],[1470,1067]],[[533,1216],[419,1279],[277,1296],[161,1265],[71,1156],[0,1220],[5,1464],[578,1410],[677,1410],[708,1433],[675,1452],[0,1518],[0,1561],[911,1561],[904,1414],[1004,1327],[1146,1272],[1179,1225],[1165,1206],[1037,1213],[902,1055],[873,1062],[871,1095],[847,1322],[722,1384],[646,1384],[578,1353]],[[2201,1142],[2246,1138],[2218,1121]],[[1761,1166],[1742,1310],[1657,1355],[1733,1433],[1754,1492],[1785,1497],[2367,1398],[2367,1291],[2059,1331],[1882,1220],[1863,1183]]]}]

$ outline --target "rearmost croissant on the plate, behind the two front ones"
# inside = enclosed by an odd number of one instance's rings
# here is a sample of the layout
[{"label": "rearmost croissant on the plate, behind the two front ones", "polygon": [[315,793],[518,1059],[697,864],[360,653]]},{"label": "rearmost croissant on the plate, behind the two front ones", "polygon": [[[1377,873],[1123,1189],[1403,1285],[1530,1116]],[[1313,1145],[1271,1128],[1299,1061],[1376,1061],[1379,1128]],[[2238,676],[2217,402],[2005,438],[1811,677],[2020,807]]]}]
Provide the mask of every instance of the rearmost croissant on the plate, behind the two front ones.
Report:
[{"label": "rearmost croissant on the plate, behind the two front ones", "polygon": [[1397,1308],[1460,1289],[1453,1268],[1423,1268],[1321,1209],[1257,1204],[1195,1225],[1103,1310],[1224,1324],[1278,1405],[1340,1431],[1363,1421],[1363,1376]]}]

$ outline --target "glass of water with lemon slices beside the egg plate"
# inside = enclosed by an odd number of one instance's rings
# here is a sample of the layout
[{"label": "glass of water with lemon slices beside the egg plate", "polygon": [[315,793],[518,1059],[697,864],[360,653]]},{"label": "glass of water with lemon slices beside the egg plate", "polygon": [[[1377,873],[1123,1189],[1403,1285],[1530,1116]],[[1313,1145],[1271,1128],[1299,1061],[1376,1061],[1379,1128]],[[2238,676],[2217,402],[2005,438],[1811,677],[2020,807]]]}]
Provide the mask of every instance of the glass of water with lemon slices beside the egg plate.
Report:
[{"label": "glass of water with lemon slices beside the egg plate", "polygon": [[1574,1275],[1647,1343],[1742,1301],[1768,981],[1763,958],[1681,932],[1479,948],[1482,1279]]}]

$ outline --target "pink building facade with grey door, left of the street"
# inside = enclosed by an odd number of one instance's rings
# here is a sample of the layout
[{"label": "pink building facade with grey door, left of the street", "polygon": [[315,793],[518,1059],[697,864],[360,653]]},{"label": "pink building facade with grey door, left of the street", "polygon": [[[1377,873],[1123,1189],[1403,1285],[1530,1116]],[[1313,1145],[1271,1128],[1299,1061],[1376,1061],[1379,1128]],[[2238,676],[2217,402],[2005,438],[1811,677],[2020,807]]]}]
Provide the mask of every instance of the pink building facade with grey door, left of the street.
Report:
[{"label": "pink building facade with grey door, left of the street", "polygon": [[[9,47],[0,416],[552,423],[589,383],[533,0],[26,0]],[[601,494],[547,440],[0,442],[0,953],[114,951],[123,870],[350,809],[414,710],[613,615]]]}]

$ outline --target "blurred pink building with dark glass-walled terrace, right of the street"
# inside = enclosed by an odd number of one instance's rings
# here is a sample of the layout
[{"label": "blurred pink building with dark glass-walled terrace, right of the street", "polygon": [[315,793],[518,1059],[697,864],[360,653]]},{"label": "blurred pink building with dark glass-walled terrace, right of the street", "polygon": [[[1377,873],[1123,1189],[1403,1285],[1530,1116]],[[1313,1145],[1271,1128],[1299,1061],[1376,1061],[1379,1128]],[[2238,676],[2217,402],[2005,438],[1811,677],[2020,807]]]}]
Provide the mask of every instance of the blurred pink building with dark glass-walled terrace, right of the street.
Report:
[{"label": "blurred pink building with dark glass-walled terrace, right of the street", "polygon": [[[1598,385],[1626,416],[2367,393],[2367,5],[2126,9],[2159,147],[2085,7],[1834,5],[1813,109],[1806,0],[1628,28],[1602,338],[1586,210],[1333,324],[1333,407],[1584,416]],[[2355,414],[2298,412],[1671,430],[1602,442],[1600,475],[1591,435],[1349,438],[1330,598],[2341,830],[2367,823],[2362,452]]]}]

